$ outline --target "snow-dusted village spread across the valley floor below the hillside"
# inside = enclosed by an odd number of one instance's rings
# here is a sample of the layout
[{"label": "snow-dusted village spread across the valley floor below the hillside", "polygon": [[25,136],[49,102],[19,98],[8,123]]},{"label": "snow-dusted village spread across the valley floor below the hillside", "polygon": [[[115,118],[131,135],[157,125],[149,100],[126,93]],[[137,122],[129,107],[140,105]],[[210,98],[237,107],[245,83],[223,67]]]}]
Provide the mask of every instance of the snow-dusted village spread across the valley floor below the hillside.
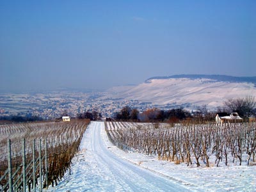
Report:
[{"label": "snow-dusted village spread across the valley floor below the hillside", "polygon": [[[108,118],[122,109],[131,106],[140,111],[150,108],[171,109],[184,105],[154,105],[138,100],[111,99],[105,92],[49,92],[49,93],[2,93],[0,94],[0,117],[40,116],[45,120],[59,118],[63,113],[75,118],[86,111],[97,111]],[[103,98],[102,98],[103,97]],[[196,107],[195,107],[196,108]]]}]

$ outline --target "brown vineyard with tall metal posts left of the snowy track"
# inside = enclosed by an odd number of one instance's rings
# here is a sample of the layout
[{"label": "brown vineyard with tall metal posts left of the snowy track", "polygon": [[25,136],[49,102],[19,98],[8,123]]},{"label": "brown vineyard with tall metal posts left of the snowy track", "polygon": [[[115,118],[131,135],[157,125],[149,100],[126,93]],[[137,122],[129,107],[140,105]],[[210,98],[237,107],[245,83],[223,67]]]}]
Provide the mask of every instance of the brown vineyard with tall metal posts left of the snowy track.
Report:
[{"label": "brown vineyard with tall metal posts left of the snowy track", "polygon": [[[41,134],[37,137],[27,134],[23,139],[15,136],[12,141],[8,139],[6,148],[2,140],[1,150],[6,157],[2,156],[0,161],[0,191],[35,191],[38,185],[42,191],[49,185],[57,185],[70,168],[88,124],[88,121],[48,123],[40,125],[41,129],[38,124],[29,124],[31,132],[38,129]],[[25,128],[28,129],[26,125]],[[20,129],[9,132],[15,134],[17,130]],[[24,136],[24,132],[21,135]]]}]

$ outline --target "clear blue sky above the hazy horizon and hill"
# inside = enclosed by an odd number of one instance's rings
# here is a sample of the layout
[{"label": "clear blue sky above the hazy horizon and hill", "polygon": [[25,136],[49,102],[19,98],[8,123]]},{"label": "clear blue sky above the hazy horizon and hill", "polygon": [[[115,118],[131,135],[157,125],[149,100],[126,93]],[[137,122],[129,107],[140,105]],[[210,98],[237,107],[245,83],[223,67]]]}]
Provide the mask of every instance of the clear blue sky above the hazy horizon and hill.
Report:
[{"label": "clear blue sky above the hazy horizon and hill", "polygon": [[256,76],[256,1],[0,1],[0,91]]}]

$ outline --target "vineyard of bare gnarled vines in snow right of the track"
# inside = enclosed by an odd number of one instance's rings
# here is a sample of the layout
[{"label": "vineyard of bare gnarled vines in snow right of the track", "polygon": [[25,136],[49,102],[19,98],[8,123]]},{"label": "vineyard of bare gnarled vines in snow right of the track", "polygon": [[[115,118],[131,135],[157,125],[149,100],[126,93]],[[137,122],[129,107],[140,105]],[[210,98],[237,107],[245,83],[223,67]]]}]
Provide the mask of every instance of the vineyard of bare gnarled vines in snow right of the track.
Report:
[{"label": "vineyard of bare gnarled vines in snow right of the track", "polygon": [[106,122],[110,140],[123,150],[136,150],[188,166],[255,164],[256,124],[135,124]]}]

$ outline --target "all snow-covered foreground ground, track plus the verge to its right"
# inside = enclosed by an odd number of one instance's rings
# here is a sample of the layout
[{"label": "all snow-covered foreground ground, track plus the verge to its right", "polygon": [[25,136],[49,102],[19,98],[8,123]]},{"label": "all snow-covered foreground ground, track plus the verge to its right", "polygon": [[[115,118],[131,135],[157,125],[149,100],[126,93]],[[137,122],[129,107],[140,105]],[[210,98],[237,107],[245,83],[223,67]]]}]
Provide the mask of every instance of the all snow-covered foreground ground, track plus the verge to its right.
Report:
[{"label": "all snow-covered foreground ground, track plus the verge to its right", "polygon": [[92,122],[71,175],[47,191],[256,191],[256,166],[196,168],[124,152]]}]

